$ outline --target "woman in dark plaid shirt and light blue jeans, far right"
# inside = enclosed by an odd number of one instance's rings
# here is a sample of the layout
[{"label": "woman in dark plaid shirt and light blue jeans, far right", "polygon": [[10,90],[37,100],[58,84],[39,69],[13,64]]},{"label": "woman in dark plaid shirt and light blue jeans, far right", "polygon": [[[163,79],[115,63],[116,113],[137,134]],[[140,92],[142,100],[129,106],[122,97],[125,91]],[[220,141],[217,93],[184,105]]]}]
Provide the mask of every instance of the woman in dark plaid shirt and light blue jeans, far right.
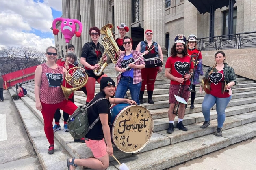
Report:
[{"label": "woman in dark plaid shirt and light blue jeans, far right", "polygon": [[210,91],[204,90],[208,94],[205,94],[202,103],[204,124],[201,128],[204,129],[210,125],[210,109],[216,104],[218,126],[215,136],[222,136],[225,110],[232,95],[231,87],[237,84],[234,69],[224,62],[225,59],[223,51],[215,53],[215,64],[205,73],[206,81],[210,81]]}]

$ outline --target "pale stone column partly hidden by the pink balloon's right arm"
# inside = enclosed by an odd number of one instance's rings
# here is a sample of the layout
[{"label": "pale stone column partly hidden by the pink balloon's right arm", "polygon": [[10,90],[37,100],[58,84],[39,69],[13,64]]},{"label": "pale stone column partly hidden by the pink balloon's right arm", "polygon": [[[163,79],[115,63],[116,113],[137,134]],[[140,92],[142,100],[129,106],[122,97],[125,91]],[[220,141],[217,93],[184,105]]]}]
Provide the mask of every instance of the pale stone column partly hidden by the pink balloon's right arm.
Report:
[{"label": "pale stone column partly hidden by the pink balloon's right arm", "polygon": [[[77,19],[81,21],[80,0],[70,0],[70,19]],[[79,30],[79,26],[78,24],[76,24],[76,31],[78,30]],[[72,44],[75,46],[76,56],[80,57],[81,51],[82,51],[81,37],[76,37],[76,35],[74,35],[72,37]]]}]

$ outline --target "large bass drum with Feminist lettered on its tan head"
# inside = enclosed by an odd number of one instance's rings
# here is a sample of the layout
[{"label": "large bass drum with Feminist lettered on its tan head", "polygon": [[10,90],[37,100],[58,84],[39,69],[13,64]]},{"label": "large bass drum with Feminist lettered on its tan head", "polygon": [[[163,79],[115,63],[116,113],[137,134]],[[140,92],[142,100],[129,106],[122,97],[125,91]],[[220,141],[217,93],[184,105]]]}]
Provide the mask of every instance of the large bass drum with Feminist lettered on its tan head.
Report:
[{"label": "large bass drum with Feminist lettered on its tan head", "polygon": [[125,153],[141,151],[153,132],[153,119],[143,106],[120,103],[111,106],[110,132],[113,144]]}]

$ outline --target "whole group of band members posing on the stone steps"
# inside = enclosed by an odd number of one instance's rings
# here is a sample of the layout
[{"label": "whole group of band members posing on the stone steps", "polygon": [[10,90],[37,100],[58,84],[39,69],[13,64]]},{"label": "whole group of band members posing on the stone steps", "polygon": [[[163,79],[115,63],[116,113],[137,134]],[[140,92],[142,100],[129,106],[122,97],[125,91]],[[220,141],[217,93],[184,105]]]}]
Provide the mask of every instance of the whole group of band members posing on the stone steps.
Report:
[{"label": "whole group of band members posing on the stone steps", "polygon": [[[147,87],[148,103],[154,104],[152,94],[154,91],[154,83],[158,72],[163,71],[163,53],[160,45],[153,41],[153,31],[145,31],[145,41],[141,41],[136,50],[132,49],[132,38],[125,36],[129,28],[122,23],[117,27],[121,35],[117,38],[119,46],[119,55],[115,70],[120,73],[117,77],[117,86],[115,81],[108,77],[104,72],[97,76],[93,70],[99,69],[99,60],[102,58],[104,62],[107,60],[104,47],[98,40],[100,38],[100,29],[92,27],[89,30],[91,42],[85,43],[81,53],[81,64],[85,67],[88,74],[88,82],[85,88],[82,89],[87,95],[86,105],[89,106],[99,98],[106,98],[107,100],[100,100],[95,105],[90,107],[87,112],[89,124],[92,124],[97,117],[100,120],[94,125],[89,133],[75,142],[85,142],[94,155],[94,158],[89,159],[67,159],[67,166],[69,170],[74,170],[77,166],[85,166],[92,169],[106,169],[109,165],[108,155],[113,155],[113,148],[111,143],[111,134],[109,128],[111,104],[127,102],[129,104],[142,104],[145,87]],[[202,75],[202,55],[196,46],[197,37],[191,35],[187,39],[184,35],[175,37],[175,43],[171,48],[171,56],[167,59],[165,64],[165,77],[171,80],[169,89],[169,128],[167,133],[174,132],[174,118],[173,110],[175,110],[177,100],[174,95],[178,95],[178,91],[182,86],[187,89],[190,85],[190,79],[194,73],[194,84],[199,84],[199,75]],[[187,44],[187,45],[186,45]],[[61,64],[56,64],[57,49],[55,47],[48,47],[46,49],[47,62],[37,67],[35,71],[35,101],[37,110],[41,111],[44,119],[44,131],[49,142],[48,153],[54,153],[54,132],[60,130],[59,125],[60,111],[63,110],[64,118],[64,132],[68,132],[67,119],[72,115],[77,106],[74,104],[74,94],[69,96],[69,100],[65,100],[65,96],[61,89],[61,84],[69,87],[65,83],[65,77],[72,74],[68,70],[77,66],[77,57],[74,51],[74,46],[67,47],[67,58]],[[70,50],[69,50],[70,49]],[[190,64],[190,56],[192,53],[198,53],[198,60],[194,64]],[[66,62],[66,60],[68,62]],[[195,59],[192,59],[193,61]],[[235,85],[236,78],[234,70],[224,63],[225,54],[218,51],[215,54],[215,65],[206,72],[206,78],[211,82],[211,92],[206,94],[204,102],[202,103],[202,111],[205,117],[205,122],[201,128],[206,128],[210,125],[210,108],[216,103],[218,114],[217,136],[221,136],[221,128],[225,120],[225,108],[231,99],[231,96],[226,90],[230,90]],[[195,69],[194,69],[195,67]],[[85,72],[85,70],[84,70]],[[215,74],[221,75],[221,79],[214,79]],[[54,79],[52,78],[54,77]],[[100,83],[100,92],[95,95],[95,83]],[[125,98],[126,92],[130,90],[131,99]],[[54,94],[54,95],[53,95]],[[191,106],[194,108],[195,94],[190,94],[189,91],[183,91],[180,97],[188,101],[191,95]],[[113,98],[113,96],[115,96]],[[183,125],[183,118],[185,113],[185,104],[180,103],[178,110],[178,129],[187,131],[188,129]],[[52,127],[53,118],[55,125]],[[105,141],[104,142],[104,138]]]}]

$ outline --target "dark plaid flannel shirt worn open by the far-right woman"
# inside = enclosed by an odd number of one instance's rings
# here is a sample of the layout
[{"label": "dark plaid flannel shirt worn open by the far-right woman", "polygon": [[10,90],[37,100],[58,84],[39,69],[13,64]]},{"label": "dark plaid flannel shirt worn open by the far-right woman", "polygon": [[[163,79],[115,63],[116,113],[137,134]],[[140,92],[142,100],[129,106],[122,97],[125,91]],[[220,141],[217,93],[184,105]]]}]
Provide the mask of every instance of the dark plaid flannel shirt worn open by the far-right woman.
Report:
[{"label": "dark plaid flannel shirt worn open by the far-right woman", "polygon": [[[212,70],[212,67],[208,69],[208,71],[205,73],[205,78],[209,78],[209,72]],[[213,69],[213,72],[218,72],[216,68]],[[224,68],[223,68],[223,73],[224,73],[224,81],[228,84],[231,81],[234,81],[236,85],[236,74],[234,72],[234,69],[230,66],[228,66],[227,63],[224,63]]]}]

